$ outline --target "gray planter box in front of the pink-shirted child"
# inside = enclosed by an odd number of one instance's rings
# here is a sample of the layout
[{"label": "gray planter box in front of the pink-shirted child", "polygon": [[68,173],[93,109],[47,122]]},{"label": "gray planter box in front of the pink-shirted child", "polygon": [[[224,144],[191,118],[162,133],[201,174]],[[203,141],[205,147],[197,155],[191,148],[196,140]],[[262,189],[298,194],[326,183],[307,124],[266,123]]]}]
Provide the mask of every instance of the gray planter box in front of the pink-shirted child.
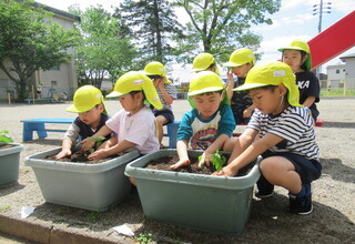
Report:
[{"label": "gray planter box in front of the pink-shirted child", "polygon": [[139,157],[138,150],[99,164],[44,160],[60,152],[50,150],[26,157],[47,202],[103,212],[121,202],[131,191],[125,165]]}]

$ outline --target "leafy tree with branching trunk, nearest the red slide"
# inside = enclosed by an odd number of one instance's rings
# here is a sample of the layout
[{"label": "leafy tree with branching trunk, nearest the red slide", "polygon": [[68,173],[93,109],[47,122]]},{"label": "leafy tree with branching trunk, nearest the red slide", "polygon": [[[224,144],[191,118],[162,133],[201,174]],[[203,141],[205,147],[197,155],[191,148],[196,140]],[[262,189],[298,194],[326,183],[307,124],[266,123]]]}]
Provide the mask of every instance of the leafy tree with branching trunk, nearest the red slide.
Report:
[{"label": "leafy tree with branching trunk, nearest the red slide", "polygon": [[[239,47],[257,49],[261,37],[253,33],[252,24],[272,20],[265,12],[278,11],[281,0],[175,0],[175,6],[190,17],[186,39],[180,40],[180,61],[191,60],[195,51],[204,51],[227,60]],[[196,53],[195,53],[196,54]]]}]

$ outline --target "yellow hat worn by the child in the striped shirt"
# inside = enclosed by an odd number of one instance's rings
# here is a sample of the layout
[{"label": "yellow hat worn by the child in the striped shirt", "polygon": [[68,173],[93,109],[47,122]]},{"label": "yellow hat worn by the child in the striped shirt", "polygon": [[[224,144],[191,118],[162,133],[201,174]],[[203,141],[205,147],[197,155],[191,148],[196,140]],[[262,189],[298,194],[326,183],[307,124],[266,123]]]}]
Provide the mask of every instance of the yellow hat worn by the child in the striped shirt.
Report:
[{"label": "yellow hat worn by the child in the striped shirt", "polygon": [[266,62],[253,67],[245,79],[245,83],[233,91],[243,91],[262,88],[266,85],[283,84],[287,88],[287,101],[293,106],[300,104],[300,91],[296,85],[296,78],[292,69],[284,62]]}]

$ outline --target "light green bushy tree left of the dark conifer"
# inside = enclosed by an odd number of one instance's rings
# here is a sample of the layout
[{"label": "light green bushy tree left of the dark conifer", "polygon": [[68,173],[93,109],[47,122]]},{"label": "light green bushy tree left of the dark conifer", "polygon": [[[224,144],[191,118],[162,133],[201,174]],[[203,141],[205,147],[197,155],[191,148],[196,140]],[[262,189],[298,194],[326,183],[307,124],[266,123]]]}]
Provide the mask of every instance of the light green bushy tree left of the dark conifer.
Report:
[{"label": "light green bushy tree left of the dark conifer", "polygon": [[81,41],[77,48],[79,83],[101,88],[104,77],[115,81],[120,74],[130,70],[138,52],[126,38],[126,29],[101,6],[84,12],[71,8],[81,17],[78,29]]}]

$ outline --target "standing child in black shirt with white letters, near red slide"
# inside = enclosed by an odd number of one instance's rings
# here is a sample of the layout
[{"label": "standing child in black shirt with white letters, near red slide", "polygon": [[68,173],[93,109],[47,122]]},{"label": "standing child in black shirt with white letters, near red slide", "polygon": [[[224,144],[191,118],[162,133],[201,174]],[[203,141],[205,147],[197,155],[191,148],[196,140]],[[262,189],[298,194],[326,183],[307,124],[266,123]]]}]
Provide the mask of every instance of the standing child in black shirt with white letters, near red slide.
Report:
[{"label": "standing child in black shirt with white letters, near red slide", "polygon": [[313,120],[316,122],[320,112],[316,102],[320,102],[320,81],[311,72],[312,57],[310,47],[302,40],[294,40],[287,47],[278,49],[282,52],[282,61],[287,63],[296,75],[300,90],[300,103],[310,108]]}]

